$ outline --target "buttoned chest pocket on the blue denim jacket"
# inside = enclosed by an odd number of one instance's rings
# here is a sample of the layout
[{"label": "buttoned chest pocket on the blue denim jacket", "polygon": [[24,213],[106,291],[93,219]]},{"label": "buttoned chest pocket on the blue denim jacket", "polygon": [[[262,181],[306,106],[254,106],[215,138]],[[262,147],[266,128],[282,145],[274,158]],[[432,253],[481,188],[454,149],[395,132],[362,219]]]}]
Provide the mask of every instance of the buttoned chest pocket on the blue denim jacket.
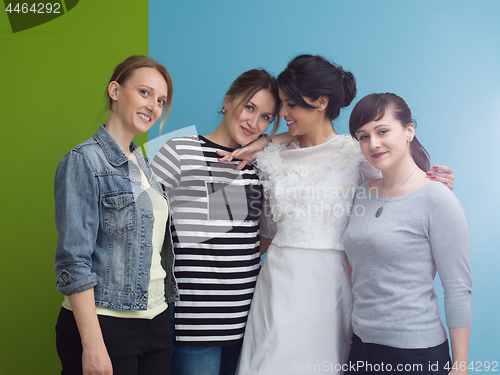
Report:
[{"label": "buttoned chest pocket on the blue denim jacket", "polygon": [[103,194],[102,204],[105,231],[124,233],[135,228],[136,206],[131,191]]}]

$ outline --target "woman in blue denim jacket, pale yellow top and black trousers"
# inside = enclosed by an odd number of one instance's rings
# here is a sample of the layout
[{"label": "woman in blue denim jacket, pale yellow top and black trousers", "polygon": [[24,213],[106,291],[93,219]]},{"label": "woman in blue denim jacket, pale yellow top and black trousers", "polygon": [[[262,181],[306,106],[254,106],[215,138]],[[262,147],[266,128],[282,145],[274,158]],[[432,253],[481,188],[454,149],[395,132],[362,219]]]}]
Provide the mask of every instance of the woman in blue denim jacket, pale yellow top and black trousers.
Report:
[{"label": "woman in blue denim jacket, pale yellow top and black trousers", "polygon": [[[168,374],[167,302],[178,298],[167,197],[133,138],[172,102],[167,69],[144,56],[119,64],[106,124],[55,177],[56,325],[62,374]],[[162,121],[162,122],[163,122]],[[125,318],[125,319],[124,319]]]}]

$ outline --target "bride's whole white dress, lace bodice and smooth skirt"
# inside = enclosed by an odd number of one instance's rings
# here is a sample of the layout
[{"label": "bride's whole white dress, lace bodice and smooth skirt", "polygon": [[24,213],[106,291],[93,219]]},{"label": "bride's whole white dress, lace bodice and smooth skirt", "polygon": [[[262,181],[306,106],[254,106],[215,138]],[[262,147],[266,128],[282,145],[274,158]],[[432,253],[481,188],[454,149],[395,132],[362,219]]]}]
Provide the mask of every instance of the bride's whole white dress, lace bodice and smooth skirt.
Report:
[{"label": "bride's whole white dress, lace bodice and smooth skirt", "polygon": [[271,143],[257,166],[273,217],[272,225],[261,223],[261,234],[273,242],[257,279],[237,374],[341,373],[352,333],[342,236],[356,188],[379,174],[345,135],[308,148]]}]

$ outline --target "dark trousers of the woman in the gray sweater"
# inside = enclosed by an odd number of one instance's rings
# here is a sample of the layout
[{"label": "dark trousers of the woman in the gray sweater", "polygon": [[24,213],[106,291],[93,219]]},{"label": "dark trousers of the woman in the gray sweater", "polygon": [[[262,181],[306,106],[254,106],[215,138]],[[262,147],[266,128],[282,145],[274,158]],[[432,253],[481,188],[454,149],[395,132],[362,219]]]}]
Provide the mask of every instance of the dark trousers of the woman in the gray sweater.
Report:
[{"label": "dark trousers of the woman in the gray sweater", "polygon": [[366,344],[353,335],[345,369],[344,374],[351,375],[446,375],[451,370],[448,340],[431,348],[400,349]]}]

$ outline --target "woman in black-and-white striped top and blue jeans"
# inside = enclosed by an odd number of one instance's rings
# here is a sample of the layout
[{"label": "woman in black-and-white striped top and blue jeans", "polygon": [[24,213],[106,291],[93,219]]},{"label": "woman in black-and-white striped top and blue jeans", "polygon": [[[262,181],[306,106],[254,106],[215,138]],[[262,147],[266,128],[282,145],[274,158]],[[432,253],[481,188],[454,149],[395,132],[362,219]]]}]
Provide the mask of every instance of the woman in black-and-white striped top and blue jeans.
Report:
[{"label": "woman in black-and-white striped top and blue jeans", "polygon": [[153,160],[172,209],[175,316],[172,372],[234,374],[260,269],[263,193],[256,170],[219,162],[274,121],[278,85],[264,70],[240,75],[226,93],[223,118],[206,136],[169,140]]}]

